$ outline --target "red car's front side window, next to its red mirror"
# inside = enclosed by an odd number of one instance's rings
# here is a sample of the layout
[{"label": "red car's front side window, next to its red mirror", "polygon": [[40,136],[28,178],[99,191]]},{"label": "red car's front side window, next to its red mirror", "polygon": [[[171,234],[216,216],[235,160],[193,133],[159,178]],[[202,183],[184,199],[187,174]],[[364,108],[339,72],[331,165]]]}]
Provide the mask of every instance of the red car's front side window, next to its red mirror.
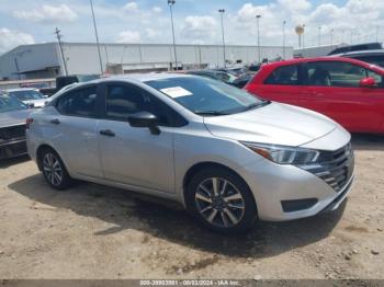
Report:
[{"label": "red car's front side window, next to its red mirror", "polygon": [[365,68],[343,61],[308,62],[307,71],[308,85],[358,88],[366,77]]}]

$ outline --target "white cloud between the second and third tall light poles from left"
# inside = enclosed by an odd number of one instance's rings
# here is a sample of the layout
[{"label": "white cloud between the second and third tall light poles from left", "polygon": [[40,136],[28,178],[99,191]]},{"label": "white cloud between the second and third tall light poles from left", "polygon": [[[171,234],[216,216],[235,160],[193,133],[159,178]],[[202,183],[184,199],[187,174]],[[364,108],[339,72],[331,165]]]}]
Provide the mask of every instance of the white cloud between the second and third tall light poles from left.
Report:
[{"label": "white cloud between the second and third tall light poles from left", "polygon": [[203,38],[214,37],[217,28],[217,21],[213,16],[190,15],[184,19],[181,33],[188,38],[201,41]]}]

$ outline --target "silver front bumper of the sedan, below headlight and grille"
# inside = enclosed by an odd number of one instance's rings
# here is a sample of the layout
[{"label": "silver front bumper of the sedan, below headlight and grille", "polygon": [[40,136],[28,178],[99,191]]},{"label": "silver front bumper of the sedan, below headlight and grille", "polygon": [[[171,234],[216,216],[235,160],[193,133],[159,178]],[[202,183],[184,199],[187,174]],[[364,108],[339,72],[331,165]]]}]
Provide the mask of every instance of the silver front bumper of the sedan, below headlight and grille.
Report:
[{"label": "silver front bumper of the sedan, below headlight and grille", "polygon": [[[335,210],[350,193],[354,179],[353,173],[349,174],[342,187],[336,191],[324,179],[306,170],[269,160],[244,167],[241,175],[253,193],[259,219],[268,221],[293,220]],[[293,203],[291,206],[296,208],[287,210],[284,203]]]}]

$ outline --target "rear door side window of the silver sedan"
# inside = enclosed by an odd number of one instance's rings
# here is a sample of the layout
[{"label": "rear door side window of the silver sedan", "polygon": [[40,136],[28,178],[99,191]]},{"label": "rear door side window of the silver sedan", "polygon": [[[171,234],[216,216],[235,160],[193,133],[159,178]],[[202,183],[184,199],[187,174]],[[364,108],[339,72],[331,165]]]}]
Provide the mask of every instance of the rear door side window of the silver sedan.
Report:
[{"label": "rear door side window of the silver sedan", "polygon": [[56,108],[60,114],[81,117],[94,117],[97,87],[70,91],[58,99]]}]

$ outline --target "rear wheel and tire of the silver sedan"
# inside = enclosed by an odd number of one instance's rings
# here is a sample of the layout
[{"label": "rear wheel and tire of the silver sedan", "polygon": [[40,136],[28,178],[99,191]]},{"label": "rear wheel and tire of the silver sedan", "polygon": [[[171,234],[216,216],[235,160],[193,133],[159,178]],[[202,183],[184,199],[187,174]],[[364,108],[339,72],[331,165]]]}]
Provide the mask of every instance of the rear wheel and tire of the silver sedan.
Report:
[{"label": "rear wheel and tire of the silver sedan", "polygon": [[44,179],[50,187],[63,191],[72,185],[74,181],[56,151],[46,148],[41,152],[38,160],[41,162]]}]

